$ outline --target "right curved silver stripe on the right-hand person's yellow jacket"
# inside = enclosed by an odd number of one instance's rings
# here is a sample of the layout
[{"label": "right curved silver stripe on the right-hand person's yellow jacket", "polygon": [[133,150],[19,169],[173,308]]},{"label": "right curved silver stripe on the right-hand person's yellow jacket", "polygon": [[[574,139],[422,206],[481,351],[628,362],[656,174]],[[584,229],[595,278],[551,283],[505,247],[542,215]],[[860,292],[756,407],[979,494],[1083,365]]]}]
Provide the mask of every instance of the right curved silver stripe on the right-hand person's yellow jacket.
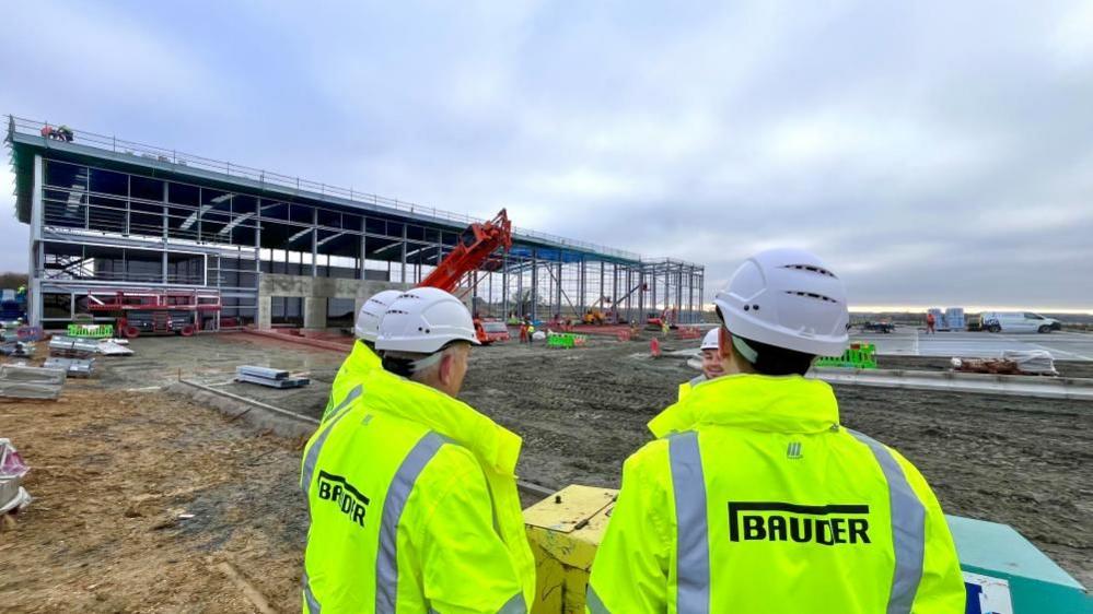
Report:
[{"label": "right curved silver stripe on the right-hand person's yellow jacket", "polygon": [[899,462],[883,444],[869,435],[847,428],[862,444],[869,446],[888,482],[888,501],[892,507],[892,546],[896,555],[896,569],[892,576],[887,614],[909,614],[915,604],[915,593],[922,579],[922,559],[926,552],[926,508],[919,500]]}]

